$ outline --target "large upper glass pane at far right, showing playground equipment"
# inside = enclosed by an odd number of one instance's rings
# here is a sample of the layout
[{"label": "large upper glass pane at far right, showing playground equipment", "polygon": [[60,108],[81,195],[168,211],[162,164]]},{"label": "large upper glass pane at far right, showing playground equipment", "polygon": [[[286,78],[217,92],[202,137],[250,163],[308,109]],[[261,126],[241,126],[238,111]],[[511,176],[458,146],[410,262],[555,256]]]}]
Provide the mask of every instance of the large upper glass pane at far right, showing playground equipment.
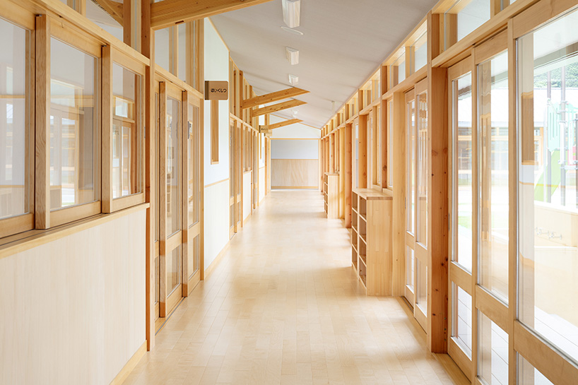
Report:
[{"label": "large upper glass pane at far right, showing playground equipment", "polygon": [[578,362],[577,23],[517,41],[517,120],[519,319]]}]

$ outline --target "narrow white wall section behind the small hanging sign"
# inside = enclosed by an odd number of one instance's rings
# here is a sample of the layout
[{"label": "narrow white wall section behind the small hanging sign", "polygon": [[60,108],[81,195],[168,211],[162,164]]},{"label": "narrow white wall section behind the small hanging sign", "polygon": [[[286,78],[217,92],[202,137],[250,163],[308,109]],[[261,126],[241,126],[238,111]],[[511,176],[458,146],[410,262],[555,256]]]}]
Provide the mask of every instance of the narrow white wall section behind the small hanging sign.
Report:
[{"label": "narrow white wall section behind the small hanging sign", "polygon": [[[229,80],[229,50],[205,19],[205,79]],[[204,258],[211,266],[229,241],[229,102],[219,101],[219,162],[211,165],[211,102],[204,102]]]}]

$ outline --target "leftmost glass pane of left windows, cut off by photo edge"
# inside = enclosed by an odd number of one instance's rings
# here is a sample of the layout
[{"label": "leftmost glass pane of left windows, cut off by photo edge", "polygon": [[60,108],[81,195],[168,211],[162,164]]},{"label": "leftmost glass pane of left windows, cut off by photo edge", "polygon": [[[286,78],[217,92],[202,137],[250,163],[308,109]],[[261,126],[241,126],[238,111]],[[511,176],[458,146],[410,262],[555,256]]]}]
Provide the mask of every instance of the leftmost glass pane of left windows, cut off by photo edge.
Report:
[{"label": "leftmost glass pane of left windows, cut off by photo edge", "polygon": [[0,19],[0,36],[0,218],[8,218],[30,211],[30,32]]}]

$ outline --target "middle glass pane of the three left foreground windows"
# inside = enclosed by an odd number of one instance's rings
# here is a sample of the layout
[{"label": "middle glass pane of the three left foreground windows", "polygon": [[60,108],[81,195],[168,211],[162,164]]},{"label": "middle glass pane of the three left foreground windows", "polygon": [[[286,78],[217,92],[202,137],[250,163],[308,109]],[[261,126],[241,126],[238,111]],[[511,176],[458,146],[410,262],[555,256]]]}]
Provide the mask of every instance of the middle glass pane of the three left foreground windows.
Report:
[{"label": "middle glass pane of the three left foreground windows", "polygon": [[98,200],[98,59],[51,39],[50,208]]}]

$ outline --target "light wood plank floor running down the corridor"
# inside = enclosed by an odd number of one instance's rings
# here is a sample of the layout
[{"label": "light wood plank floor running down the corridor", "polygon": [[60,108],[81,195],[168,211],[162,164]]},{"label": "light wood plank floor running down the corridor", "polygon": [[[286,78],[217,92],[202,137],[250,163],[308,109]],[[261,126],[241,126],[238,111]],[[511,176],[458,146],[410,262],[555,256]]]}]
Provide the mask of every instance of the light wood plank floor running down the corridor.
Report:
[{"label": "light wood plank floor running down the corridor", "polygon": [[125,384],[464,383],[401,300],[362,293],[348,230],[322,205],[272,191]]}]

